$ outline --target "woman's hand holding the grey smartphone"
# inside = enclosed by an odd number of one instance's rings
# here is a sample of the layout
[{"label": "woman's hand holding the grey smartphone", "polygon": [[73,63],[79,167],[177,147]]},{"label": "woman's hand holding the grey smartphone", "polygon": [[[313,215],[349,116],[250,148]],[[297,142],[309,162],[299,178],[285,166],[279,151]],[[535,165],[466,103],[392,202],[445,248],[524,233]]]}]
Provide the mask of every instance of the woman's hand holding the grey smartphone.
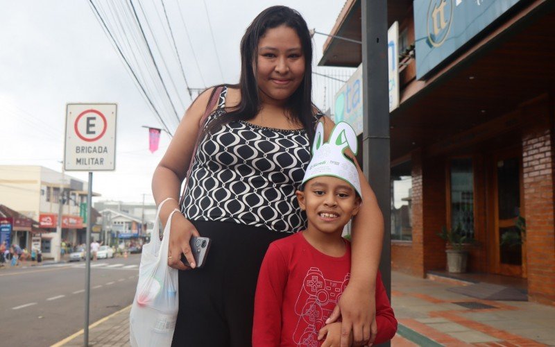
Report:
[{"label": "woman's hand holding the grey smartphone", "polygon": [[[193,236],[200,236],[194,225],[181,213],[174,213],[171,219],[171,232],[169,235],[168,265],[173,269],[194,269],[195,258],[189,246],[189,240]],[[190,267],[181,261],[181,253],[185,254]]]}]

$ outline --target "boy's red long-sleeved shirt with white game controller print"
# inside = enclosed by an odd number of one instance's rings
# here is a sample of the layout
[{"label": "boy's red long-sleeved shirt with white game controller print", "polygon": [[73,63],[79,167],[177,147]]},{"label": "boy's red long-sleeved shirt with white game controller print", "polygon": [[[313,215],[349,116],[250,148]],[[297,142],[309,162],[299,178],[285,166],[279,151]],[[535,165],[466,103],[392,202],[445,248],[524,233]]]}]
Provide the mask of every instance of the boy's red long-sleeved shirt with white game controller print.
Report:
[{"label": "boy's red long-sleeved shirt with white game controller print", "polygon": [[[270,244],[255,296],[253,346],[320,346],[318,331],[332,314],[350,277],[350,243],[342,257],[331,257],[311,246],[302,232]],[[397,321],[378,273],[376,280],[377,337],[393,338]]]}]

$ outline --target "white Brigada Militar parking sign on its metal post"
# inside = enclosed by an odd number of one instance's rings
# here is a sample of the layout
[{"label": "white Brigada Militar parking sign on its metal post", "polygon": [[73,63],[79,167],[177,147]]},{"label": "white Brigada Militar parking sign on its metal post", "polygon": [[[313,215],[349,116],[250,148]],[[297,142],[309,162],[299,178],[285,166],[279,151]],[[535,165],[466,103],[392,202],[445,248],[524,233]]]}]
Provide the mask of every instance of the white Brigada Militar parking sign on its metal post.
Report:
[{"label": "white Brigada Militar parking sign on its metal post", "polygon": [[84,218],[87,223],[83,334],[85,346],[89,346],[92,171],[116,169],[116,117],[117,104],[115,103],[68,103],[66,108],[64,169],[65,171],[89,171],[87,214]]}]

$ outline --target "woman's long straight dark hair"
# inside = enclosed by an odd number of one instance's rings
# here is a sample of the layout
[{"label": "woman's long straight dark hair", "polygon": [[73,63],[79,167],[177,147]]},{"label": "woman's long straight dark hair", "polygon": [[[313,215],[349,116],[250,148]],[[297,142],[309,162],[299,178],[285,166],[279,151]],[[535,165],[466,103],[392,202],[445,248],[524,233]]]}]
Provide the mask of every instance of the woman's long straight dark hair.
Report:
[{"label": "woman's long straight dark hair", "polygon": [[[292,120],[297,120],[307,131],[309,139],[314,137],[314,110],[311,102],[312,92],[312,42],[307,22],[296,10],[287,6],[272,6],[266,8],[257,15],[248,26],[245,35],[241,39],[241,77],[239,85],[228,85],[238,87],[241,90],[241,103],[237,107],[228,110],[224,117],[218,117],[205,132],[221,128],[230,121],[248,121],[253,119],[260,111],[260,98],[258,83],[255,76],[257,69],[258,42],[266,31],[278,26],[288,26],[296,31],[300,38],[302,53],[305,56],[305,76],[295,92],[287,100],[286,108]],[[214,91],[216,88],[214,88]],[[214,93],[214,92],[212,92]]]}]

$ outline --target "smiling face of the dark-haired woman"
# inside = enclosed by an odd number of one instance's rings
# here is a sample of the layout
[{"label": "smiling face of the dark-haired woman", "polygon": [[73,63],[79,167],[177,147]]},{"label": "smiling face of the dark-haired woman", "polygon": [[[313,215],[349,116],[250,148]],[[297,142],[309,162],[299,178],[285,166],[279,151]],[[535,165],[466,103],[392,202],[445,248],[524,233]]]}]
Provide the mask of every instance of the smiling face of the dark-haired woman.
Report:
[{"label": "smiling face of the dark-haired woman", "polygon": [[262,101],[284,103],[305,76],[305,55],[289,26],[268,29],[258,42],[256,77]]}]

